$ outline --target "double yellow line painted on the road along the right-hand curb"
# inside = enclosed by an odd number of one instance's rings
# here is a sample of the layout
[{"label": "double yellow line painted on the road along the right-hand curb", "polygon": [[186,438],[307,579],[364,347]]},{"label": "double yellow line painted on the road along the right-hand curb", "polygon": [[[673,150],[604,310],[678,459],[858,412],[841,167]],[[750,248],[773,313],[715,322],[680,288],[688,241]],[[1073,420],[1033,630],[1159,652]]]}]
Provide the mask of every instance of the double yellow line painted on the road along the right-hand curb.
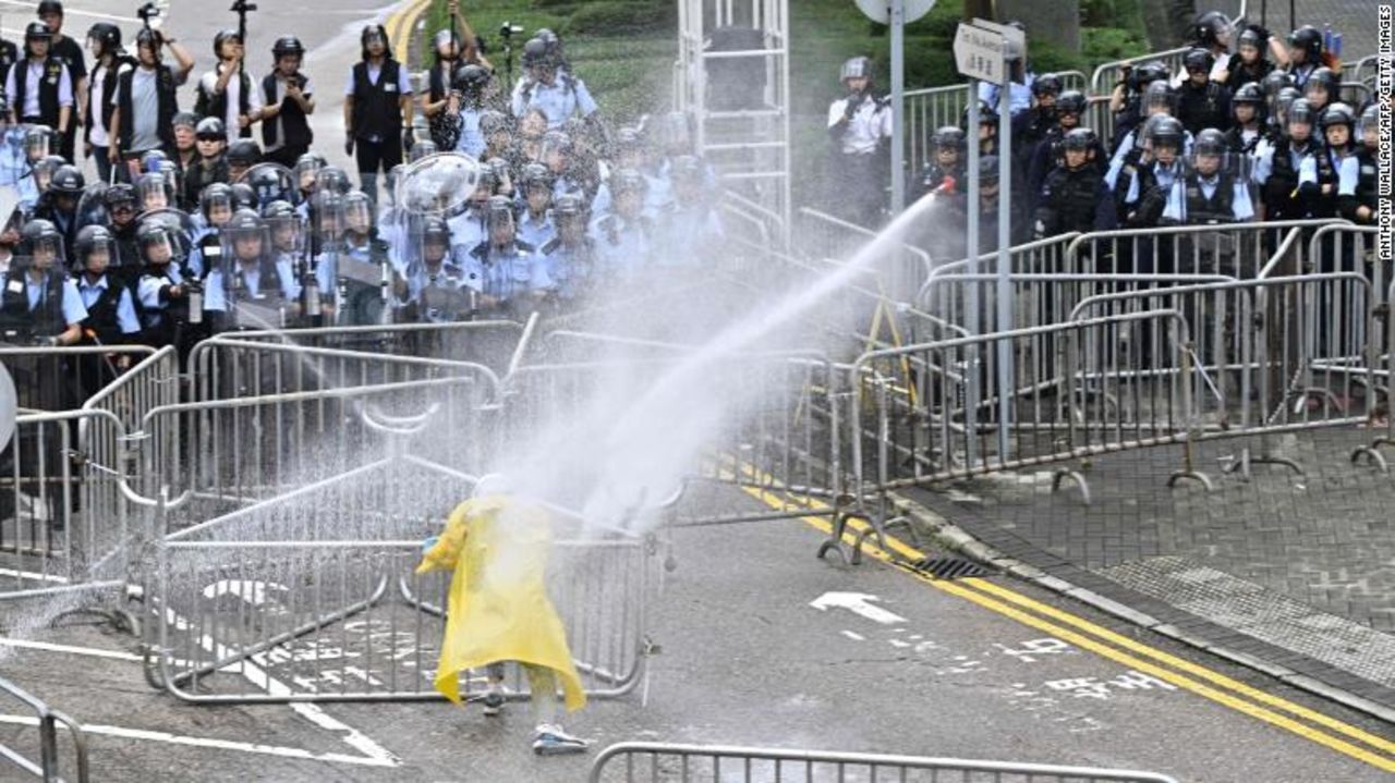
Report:
[{"label": "double yellow line painted on the road along the right-hand curb", "polygon": [[[769,478],[769,476],[766,476]],[[788,509],[791,499],[759,486],[742,486],[748,495],[774,509]],[[798,500],[815,510],[829,510],[817,500]],[[799,517],[804,522],[833,534],[833,524],[823,517]],[[869,525],[861,520],[850,520],[843,541],[852,545],[858,532]],[[889,552],[890,550],[890,552]],[[1339,754],[1363,761],[1387,772],[1395,772],[1395,741],[1371,734],[1363,729],[1295,704],[1282,697],[1240,683],[1191,660],[1177,658],[1158,648],[1145,645],[1109,628],[1091,623],[1070,612],[1048,606],[1003,585],[982,578],[958,581],[937,580],[908,568],[905,561],[921,560],[925,553],[904,541],[886,535],[886,549],[869,538],[862,543],[862,552],[882,560],[897,570],[950,595],[963,598],[1010,617],[1024,626],[1045,631],[1081,649],[1151,674],[1186,691],[1208,698],[1222,706],[1243,712],[1306,740],[1331,748]],[[893,555],[894,552],[894,555]]]}]

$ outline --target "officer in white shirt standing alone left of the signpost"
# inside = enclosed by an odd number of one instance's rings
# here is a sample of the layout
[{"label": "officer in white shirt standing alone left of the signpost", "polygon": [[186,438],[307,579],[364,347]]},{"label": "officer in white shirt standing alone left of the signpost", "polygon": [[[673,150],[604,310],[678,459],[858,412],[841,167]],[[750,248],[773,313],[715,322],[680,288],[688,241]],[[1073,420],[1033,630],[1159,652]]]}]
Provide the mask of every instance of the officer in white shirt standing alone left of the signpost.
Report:
[{"label": "officer in white shirt standing alone left of the signpost", "polygon": [[847,93],[829,104],[833,166],[829,203],[864,227],[882,223],[891,106],[872,92],[872,60],[852,57],[838,74]]}]

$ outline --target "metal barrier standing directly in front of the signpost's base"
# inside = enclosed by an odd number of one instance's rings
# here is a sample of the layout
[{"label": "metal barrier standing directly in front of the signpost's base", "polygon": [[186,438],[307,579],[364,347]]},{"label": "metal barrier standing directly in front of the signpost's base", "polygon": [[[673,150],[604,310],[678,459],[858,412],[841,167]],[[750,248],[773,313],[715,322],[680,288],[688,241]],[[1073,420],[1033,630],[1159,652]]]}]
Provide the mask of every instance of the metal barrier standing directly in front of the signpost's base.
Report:
[{"label": "metal barrier standing directly in front of the signpost's base", "polygon": [[1196,348],[1176,311],[870,351],[850,383],[854,497],[1166,443],[1187,444],[1169,483],[1209,486],[1191,460]]}]

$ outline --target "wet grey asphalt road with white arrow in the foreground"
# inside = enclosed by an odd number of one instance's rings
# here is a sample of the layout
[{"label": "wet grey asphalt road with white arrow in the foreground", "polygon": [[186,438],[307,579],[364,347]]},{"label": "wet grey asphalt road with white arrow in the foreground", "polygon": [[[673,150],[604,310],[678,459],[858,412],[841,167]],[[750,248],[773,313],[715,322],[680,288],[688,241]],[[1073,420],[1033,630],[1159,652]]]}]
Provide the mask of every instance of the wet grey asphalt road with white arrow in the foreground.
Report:
[{"label": "wet grey asphalt road with white arrow in the foreground", "polygon": [[[679,531],[678,568],[651,606],[663,652],[649,681],[568,727],[597,745],[879,751],[1205,783],[1395,770],[1389,726],[1011,580],[822,563],[819,541],[802,521]],[[446,704],[198,706],[153,691],[128,637],[75,626],[17,645],[4,676],[89,726],[98,782],[585,779],[585,758],[531,755],[522,705],[504,719]],[[29,745],[22,711],[0,712],[0,741]]]}]

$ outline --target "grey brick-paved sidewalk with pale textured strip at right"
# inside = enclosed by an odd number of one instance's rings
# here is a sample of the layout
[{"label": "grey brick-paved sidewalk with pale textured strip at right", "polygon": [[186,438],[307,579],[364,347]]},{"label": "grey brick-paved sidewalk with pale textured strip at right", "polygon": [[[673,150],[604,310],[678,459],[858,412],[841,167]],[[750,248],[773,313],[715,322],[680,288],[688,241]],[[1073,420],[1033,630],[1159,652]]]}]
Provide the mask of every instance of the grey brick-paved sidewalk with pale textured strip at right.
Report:
[{"label": "grey brick-paved sidewalk with pale textured strip at right", "polygon": [[1063,463],[1084,470],[1091,506],[1074,490],[1052,493],[1049,470],[904,497],[997,556],[1147,616],[1145,626],[1395,715],[1395,479],[1349,458],[1370,437],[1345,428],[1282,439],[1304,475],[1257,464],[1249,482],[1222,475],[1237,443],[1208,443],[1198,464],[1212,493],[1169,489],[1180,450],[1162,447]]}]

